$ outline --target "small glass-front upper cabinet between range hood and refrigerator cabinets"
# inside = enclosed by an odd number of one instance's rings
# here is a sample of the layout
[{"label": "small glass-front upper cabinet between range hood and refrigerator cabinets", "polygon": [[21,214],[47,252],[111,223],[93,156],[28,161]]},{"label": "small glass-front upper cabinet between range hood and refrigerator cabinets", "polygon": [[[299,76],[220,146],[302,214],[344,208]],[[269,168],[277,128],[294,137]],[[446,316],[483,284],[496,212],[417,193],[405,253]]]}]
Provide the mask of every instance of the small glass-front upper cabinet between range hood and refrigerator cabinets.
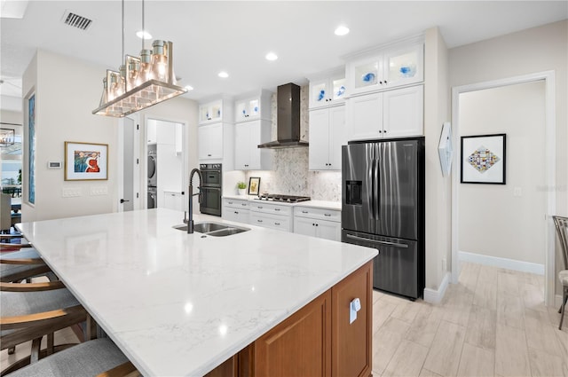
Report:
[{"label": "small glass-front upper cabinet between range hood and refrigerator cabinets", "polygon": [[310,78],[310,109],[343,104],[345,92],[343,67],[314,75]]}]

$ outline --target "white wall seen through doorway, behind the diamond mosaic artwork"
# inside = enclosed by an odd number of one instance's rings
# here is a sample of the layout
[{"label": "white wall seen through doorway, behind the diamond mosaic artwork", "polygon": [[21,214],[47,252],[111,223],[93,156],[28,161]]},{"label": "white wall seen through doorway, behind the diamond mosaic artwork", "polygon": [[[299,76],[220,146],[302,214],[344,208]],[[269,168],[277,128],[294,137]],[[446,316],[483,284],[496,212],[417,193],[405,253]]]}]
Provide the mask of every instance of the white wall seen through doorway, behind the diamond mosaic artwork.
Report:
[{"label": "white wall seen through doorway, behind the diamond mosaic artwork", "polygon": [[507,185],[458,187],[460,251],[544,265],[544,99],[543,80],[461,93],[461,136],[507,134]]}]

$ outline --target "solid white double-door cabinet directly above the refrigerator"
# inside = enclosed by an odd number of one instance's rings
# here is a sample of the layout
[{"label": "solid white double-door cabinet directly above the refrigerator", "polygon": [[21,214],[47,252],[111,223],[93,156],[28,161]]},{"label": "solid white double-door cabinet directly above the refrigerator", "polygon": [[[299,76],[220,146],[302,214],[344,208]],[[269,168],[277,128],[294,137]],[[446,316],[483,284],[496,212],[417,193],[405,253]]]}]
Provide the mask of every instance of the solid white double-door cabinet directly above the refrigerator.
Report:
[{"label": "solid white double-door cabinet directly above the refrigerator", "polygon": [[423,85],[349,98],[348,139],[423,135]]}]

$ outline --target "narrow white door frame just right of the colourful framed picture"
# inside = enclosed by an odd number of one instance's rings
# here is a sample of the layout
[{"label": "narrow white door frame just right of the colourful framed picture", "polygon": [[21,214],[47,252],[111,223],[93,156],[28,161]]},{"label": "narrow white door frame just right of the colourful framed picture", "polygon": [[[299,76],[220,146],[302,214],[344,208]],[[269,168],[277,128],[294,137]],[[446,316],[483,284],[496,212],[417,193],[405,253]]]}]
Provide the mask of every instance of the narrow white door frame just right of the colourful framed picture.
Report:
[{"label": "narrow white door frame just right of the colourful framed picture", "polygon": [[[140,195],[140,132],[139,132],[139,115],[138,114],[130,114],[126,116],[129,118],[137,128],[134,130],[134,139],[132,140],[132,151],[134,153],[133,159],[136,161],[138,159],[138,163],[134,165],[133,169],[133,183],[132,183],[132,200],[133,200],[133,210],[137,210],[142,208],[140,206],[140,200],[142,199]],[[124,118],[119,119],[118,121],[119,131],[117,132],[117,198],[116,198],[116,211],[122,212],[122,205],[119,203],[121,198],[124,198],[124,185],[122,183],[122,178],[124,176]],[[146,196],[144,197],[146,198]]]}]

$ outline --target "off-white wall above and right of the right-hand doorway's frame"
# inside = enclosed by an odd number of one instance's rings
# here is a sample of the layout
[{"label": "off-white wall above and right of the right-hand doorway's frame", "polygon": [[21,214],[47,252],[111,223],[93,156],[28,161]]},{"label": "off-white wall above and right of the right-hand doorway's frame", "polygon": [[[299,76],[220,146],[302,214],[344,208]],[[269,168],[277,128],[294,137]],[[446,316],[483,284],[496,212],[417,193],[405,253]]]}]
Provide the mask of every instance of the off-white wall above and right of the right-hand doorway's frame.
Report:
[{"label": "off-white wall above and right of the right-hand doorway's frame", "polygon": [[[556,192],[556,213],[568,216],[568,20],[456,47],[449,58],[452,87],[555,71],[556,186],[545,189]],[[560,289],[556,283],[556,293]]]}]

